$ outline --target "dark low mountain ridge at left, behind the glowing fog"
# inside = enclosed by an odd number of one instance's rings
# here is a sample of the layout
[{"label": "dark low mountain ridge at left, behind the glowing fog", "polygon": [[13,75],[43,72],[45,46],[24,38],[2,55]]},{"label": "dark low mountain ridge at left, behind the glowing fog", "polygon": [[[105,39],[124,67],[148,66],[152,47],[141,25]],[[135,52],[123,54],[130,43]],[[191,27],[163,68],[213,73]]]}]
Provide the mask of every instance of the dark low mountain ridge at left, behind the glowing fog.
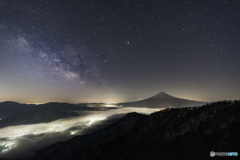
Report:
[{"label": "dark low mountain ridge at left, behind the glowing fog", "polygon": [[75,111],[93,111],[94,107],[79,106],[68,103],[46,103],[41,105],[20,104],[16,102],[0,103],[0,128],[51,122],[61,118],[79,116]]}]

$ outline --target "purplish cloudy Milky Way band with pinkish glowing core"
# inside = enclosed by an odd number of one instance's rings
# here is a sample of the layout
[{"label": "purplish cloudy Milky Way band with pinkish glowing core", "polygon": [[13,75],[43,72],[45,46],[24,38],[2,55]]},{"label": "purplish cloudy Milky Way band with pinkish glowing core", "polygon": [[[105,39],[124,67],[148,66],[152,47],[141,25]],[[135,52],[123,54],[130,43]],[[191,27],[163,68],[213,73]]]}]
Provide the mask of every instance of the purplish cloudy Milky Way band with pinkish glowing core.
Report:
[{"label": "purplish cloudy Milky Way band with pinkish glowing core", "polygon": [[84,48],[74,49],[68,45],[61,47],[58,52],[53,52],[45,46],[41,49],[34,48],[23,37],[16,39],[15,43],[24,51],[20,56],[28,58],[29,63],[42,70],[42,74],[50,73],[56,78],[76,81],[79,85],[101,80],[101,73],[96,63],[97,58],[89,54]]}]

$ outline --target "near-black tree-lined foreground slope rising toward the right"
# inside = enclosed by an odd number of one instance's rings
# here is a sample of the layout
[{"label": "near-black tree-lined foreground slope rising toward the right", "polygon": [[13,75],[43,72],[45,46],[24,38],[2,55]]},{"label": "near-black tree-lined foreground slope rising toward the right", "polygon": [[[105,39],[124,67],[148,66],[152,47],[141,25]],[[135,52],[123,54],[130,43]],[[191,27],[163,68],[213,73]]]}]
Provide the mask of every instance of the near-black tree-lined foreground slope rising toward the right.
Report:
[{"label": "near-black tree-lined foreground slope rising toward the right", "polygon": [[240,153],[239,115],[240,101],[166,109],[149,116],[129,113],[95,134],[56,143],[34,159],[196,160],[212,159],[210,151]]}]

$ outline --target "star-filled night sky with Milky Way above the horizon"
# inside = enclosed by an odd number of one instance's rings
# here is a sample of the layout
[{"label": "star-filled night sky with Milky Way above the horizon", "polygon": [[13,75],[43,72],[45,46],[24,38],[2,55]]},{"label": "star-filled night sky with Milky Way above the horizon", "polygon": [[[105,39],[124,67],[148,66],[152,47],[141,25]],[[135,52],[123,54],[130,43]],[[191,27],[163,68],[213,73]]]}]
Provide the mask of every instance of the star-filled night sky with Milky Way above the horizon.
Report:
[{"label": "star-filled night sky with Milky Way above the horizon", "polygon": [[0,0],[0,101],[240,98],[239,0]]}]

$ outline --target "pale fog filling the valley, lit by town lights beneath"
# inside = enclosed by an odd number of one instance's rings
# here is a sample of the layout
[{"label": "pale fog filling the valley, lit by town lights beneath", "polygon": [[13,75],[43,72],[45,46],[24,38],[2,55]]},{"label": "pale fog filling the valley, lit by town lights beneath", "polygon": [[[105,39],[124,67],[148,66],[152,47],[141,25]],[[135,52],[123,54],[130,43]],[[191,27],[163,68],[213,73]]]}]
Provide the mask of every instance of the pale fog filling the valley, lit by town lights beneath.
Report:
[{"label": "pale fog filling the valley, lit by town lights beneath", "polygon": [[161,109],[117,108],[104,111],[81,111],[79,117],[59,119],[50,123],[9,126],[0,129],[0,158],[32,156],[36,150],[73,136],[92,133],[115,122],[127,113],[150,114]]}]

